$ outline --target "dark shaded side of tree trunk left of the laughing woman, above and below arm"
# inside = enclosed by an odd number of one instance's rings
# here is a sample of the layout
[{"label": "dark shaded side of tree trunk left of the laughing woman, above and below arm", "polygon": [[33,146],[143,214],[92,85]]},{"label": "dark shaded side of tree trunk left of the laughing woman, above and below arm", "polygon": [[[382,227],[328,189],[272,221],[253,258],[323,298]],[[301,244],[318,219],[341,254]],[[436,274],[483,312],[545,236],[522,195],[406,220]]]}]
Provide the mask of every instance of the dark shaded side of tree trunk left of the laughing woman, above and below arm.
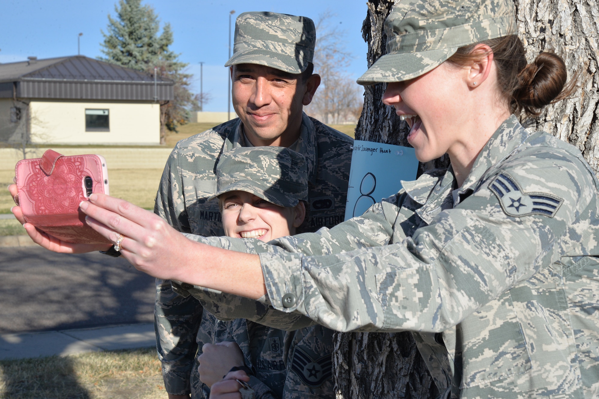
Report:
[{"label": "dark shaded side of tree trunk left of the laughing woman, above and below arm", "polygon": [[[368,67],[386,53],[383,22],[392,0],[371,0],[362,25],[368,43]],[[386,84],[365,87],[364,108],[356,126],[356,140],[409,146],[407,123],[380,98]],[[446,166],[444,159],[420,164],[419,171]],[[428,398],[438,391],[416,349],[411,333],[337,333],[334,375],[337,395],[343,398]]]}]

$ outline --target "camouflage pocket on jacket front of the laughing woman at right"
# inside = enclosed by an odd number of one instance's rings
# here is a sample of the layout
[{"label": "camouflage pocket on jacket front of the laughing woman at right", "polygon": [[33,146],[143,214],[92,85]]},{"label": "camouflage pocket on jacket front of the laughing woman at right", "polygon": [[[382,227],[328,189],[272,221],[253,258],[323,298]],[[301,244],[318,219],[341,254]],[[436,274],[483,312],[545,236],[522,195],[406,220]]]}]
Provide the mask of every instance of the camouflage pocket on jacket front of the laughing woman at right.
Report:
[{"label": "camouflage pocket on jacket front of the laughing woman at right", "polygon": [[458,325],[454,361],[456,370],[462,363],[462,389],[531,369],[527,342],[509,292]]}]

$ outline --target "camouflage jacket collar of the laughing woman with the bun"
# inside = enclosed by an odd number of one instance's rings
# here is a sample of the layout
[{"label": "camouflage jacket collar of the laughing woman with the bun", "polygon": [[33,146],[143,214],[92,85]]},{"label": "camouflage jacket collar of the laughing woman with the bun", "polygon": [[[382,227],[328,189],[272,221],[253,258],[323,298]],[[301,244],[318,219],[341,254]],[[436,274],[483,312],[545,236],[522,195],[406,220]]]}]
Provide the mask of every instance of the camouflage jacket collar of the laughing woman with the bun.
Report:
[{"label": "camouflage jacket collar of the laughing woman with the bun", "polygon": [[422,174],[418,180],[412,182],[401,182],[406,194],[422,205],[416,213],[429,223],[437,213],[449,205],[449,195],[452,195],[452,205],[455,207],[462,194],[476,190],[477,183],[485,173],[512,154],[528,136],[528,131],[518,122],[516,116],[512,115],[504,120],[480,151],[470,174],[459,189],[455,189],[457,183],[451,166],[447,170]]}]

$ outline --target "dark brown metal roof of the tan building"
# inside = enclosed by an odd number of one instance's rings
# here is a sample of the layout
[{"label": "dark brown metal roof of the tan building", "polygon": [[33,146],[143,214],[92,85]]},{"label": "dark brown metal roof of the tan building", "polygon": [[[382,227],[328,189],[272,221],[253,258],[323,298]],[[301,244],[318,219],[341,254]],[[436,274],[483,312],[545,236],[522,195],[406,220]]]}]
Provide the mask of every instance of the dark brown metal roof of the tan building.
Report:
[{"label": "dark brown metal roof of the tan building", "polygon": [[[0,64],[0,97],[53,99],[173,99],[174,82],[86,56]],[[13,86],[10,89],[10,86]],[[6,86],[6,87],[5,87]]]}]

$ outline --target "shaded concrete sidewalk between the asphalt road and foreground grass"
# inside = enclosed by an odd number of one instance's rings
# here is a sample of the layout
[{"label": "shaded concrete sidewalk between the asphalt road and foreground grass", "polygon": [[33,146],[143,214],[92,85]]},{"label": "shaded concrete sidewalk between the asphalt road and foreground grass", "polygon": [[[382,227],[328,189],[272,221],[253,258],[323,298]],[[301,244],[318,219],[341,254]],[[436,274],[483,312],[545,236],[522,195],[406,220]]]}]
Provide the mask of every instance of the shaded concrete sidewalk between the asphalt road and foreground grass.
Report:
[{"label": "shaded concrete sidewalk between the asphalt road and foreground grass", "polygon": [[154,324],[0,334],[0,360],[156,346]]}]

